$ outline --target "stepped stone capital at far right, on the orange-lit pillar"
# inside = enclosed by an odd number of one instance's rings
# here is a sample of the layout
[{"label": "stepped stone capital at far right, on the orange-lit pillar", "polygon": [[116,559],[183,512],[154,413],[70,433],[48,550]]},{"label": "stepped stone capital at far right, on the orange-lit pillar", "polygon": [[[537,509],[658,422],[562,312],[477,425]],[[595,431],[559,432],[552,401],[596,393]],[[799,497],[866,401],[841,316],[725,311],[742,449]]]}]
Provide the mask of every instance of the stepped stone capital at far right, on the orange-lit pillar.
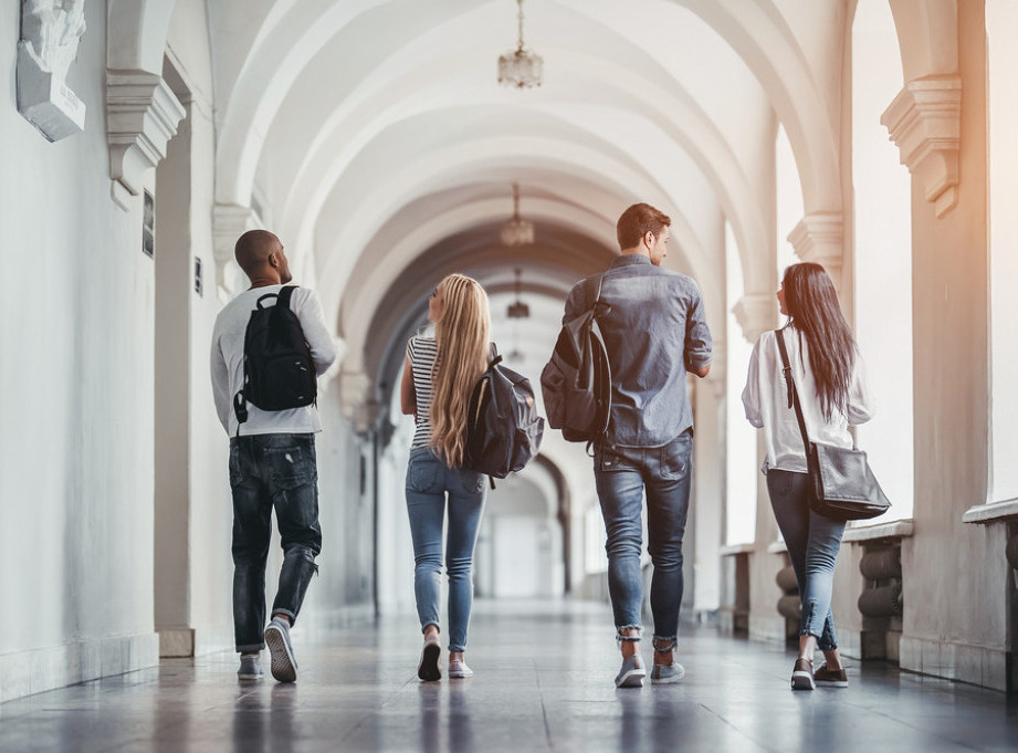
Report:
[{"label": "stepped stone capital at far right, on the orange-lit pillar", "polygon": [[901,164],[923,186],[926,201],[943,217],[958,202],[962,79],[933,75],[905,84],[883,115]]}]

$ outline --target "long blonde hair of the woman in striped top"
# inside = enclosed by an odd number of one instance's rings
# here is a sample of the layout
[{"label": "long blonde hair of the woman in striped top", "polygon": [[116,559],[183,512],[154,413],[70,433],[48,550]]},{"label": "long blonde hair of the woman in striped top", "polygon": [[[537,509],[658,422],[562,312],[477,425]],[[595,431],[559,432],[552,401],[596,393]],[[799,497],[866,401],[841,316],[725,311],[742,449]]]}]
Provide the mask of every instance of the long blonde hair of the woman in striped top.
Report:
[{"label": "long blonde hair of the woman in striped top", "polygon": [[438,356],[431,375],[431,448],[450,468],[463,463],[466,406],[491,354],[491,314],[481,283],[450,274],[442,289],[442,313],[434,323]]}]

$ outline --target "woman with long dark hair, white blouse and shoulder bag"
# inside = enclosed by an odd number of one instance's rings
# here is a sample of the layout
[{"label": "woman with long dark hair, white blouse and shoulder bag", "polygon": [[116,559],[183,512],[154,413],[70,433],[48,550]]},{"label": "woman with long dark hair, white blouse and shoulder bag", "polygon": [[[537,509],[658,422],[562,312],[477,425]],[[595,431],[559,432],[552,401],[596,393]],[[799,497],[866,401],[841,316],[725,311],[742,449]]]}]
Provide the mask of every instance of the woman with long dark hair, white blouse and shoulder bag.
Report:
[{"label": "woman with long dark hair, white blouse and shoulder bag", "polygon": [[[852,447],[850,425],[873,415],[862,360],[830,276],[819,264],[793,264],[777,292],[788,324],[760,335],[749,360],[743,405],[749,422],[764,429],[767,457],[763,471],[778,527],[799,584],[799,656],[791,674],[794,690],[817,683],[847,687],[830,609],[835,561],[844,523],[809,509],[806,448],[790,402],[777,338],[788,351],[789,366],[812,441]],[[816,649],[825,663],[814,671]]]}]

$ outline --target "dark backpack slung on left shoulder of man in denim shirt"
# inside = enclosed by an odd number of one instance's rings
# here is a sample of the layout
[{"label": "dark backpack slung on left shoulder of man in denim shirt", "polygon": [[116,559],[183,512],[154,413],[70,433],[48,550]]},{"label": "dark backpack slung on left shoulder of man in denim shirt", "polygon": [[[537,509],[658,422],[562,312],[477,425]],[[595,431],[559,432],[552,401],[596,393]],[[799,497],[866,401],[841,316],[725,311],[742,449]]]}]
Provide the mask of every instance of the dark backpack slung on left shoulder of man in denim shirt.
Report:
[{"label": "dark backpack slung on left shoulder of man in denim shirt", "polygon": [[[611,366],[597,316],[611,310],[601,302],[597,283],[594,305],[564,325],[541,373],[541,390],[548,426],[562,429],[570,442],[595,442],[607,430],[611,414]],[[598,308],[600,306],[600,308]]]}]

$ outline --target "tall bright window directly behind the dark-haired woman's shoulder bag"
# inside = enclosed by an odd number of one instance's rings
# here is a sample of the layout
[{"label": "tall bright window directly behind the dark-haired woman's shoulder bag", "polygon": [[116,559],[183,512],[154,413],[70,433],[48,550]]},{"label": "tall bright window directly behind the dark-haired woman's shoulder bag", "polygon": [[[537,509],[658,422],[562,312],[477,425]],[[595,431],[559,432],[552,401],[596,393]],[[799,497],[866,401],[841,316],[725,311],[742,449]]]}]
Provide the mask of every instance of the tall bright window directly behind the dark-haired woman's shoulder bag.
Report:
[{"label": "tall bright window directly behind the dark-haired woman's shoulder bag", "polygon": [[885,0],[859,0],[852,24],[852,180],[856,338],[875,417],[859,427],[892,508],[912,516],[911,179],[880,116],[902,87],[894,19]]}]

